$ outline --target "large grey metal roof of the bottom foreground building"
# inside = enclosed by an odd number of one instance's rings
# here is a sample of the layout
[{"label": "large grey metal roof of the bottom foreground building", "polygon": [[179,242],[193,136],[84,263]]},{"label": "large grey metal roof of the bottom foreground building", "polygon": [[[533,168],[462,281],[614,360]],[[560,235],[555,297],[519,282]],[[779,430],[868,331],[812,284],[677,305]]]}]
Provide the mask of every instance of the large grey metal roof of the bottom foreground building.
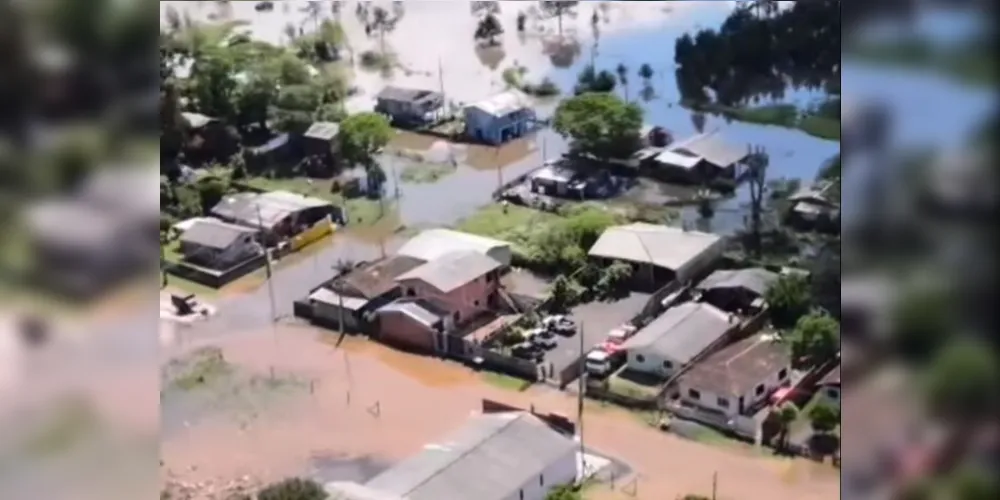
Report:
[{"label": "large grey metal roof of the bottom foreground building", "polygon": [[477,415],[367,486],[409,500],[505,500],[576,443],[527,413]]}]

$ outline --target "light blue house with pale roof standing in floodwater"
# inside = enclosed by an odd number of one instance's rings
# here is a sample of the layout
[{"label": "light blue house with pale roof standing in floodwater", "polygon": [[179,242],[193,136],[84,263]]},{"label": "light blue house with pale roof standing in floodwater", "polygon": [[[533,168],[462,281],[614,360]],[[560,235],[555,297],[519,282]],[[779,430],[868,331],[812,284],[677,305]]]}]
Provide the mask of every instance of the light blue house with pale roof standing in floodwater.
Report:
[{"label": "light blue house with pale roof standing in floodwater", "polygon": [[486,144],[503,144],[537,126],[538,117],[524,94],[510,90],[465,107],[465,134]]}]

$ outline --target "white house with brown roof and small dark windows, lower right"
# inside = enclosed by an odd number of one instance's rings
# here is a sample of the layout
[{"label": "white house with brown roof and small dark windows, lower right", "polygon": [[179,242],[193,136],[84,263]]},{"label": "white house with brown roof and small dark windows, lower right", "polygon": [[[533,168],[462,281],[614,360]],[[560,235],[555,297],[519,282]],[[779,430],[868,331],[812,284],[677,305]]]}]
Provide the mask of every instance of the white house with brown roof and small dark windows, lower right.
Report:
[{"label": "white house with brown roof and small dark windows, lower right", "polygon": [[735,418],[752,415],[789,384],[791,370],[787,348],[759,335],[709,354],[681,375],[677,386],[685,402]]}]

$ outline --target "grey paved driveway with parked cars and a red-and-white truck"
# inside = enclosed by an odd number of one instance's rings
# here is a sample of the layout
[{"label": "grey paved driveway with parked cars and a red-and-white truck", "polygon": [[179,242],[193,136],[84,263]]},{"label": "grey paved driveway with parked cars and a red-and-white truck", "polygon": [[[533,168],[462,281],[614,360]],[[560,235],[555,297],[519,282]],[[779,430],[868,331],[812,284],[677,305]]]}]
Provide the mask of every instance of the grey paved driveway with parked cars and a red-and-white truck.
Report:
[{"label": "grey paved driveway with parked cars and a red-and-white truck", "polygon": [[587,352],[603,342],[612,328],[632,319],[647,300],[649,294],[632,293],[614,302],[589,302],[574,307],[569,316],[576,321],[580,331],[572,337],[556,336],[558,345],[545,354],[546,366],[551,363],[553,373],[561,372],[580,359],[581,337],[582,352]]}]

